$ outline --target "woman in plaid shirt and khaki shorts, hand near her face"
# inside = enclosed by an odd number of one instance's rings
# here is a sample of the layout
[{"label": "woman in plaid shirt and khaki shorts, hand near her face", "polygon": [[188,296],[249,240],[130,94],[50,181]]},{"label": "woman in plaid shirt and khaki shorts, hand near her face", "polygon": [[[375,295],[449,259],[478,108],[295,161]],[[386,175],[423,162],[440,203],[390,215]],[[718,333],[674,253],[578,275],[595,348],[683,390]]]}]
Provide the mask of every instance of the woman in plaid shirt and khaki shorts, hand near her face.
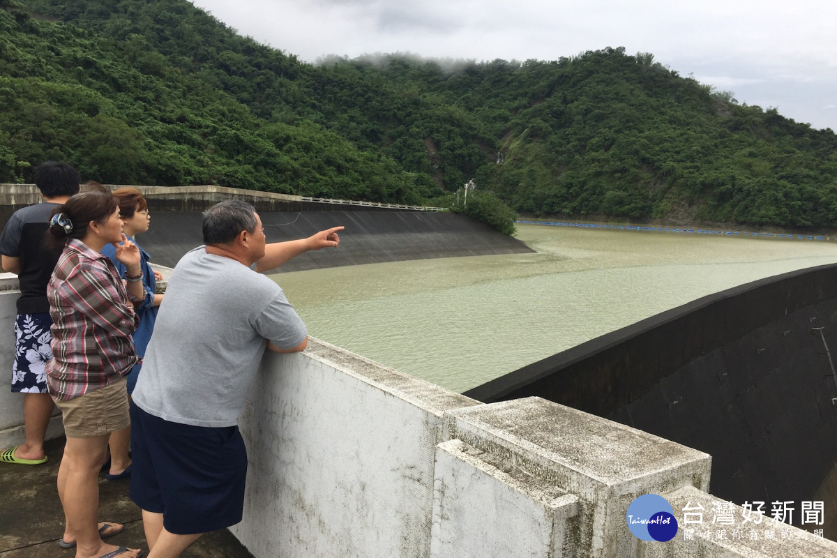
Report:
[{"label": "woman in plaid shirt and khaki shorts, hand near her face", "polygon": [[[80,556],[138,558],[140,550],[101,540],[123,527],[97,525],[97,514],[98,474],[108,438],[131,424],[124,376],[140,361],[131,340],[138,322],[134,305],[144,295],[140,252],[122,233],[110,192],[70,197],[54,210],[46,237],[48,243],[64,245],[47,288],[54,321],[47,387],[67,435],[58,491],[68,525],[59,544],[77,545]],[[100,253],[105,244],[120,242],[116,259],[126,265],[125,284]]]}]

